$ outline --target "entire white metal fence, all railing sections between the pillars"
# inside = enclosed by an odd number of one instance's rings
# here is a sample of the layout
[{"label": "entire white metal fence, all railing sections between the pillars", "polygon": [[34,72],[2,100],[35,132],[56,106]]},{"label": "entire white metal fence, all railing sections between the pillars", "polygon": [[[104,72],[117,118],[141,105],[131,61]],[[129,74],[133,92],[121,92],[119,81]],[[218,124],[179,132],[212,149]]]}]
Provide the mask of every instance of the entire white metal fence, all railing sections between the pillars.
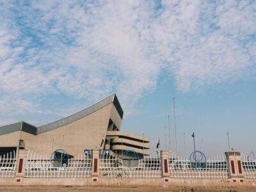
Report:
[{"label": "entire white metal fence, all railing sections between the pillars", "polygon": [[[54,159],[44,157],[35,152],[28,152],[24,177],[91,177],[92,151],[77,157],[68,157],[62,166],[54,163]],[[202,163],[202,162],[201,162]],[[243,173],[246,179],[256,179],[256,159],[243,156]],[[57,166],[56,166],[57,165]],[[64,166],[63,166],[64,165]],[[198,164],[197,164],[198,165]],[[202,165],[202,166],[201,166]],[[204,164],[195,166],[190,160],[176,154],[169,157],[170,177],[197,179],[227,179],[228,167],[225,156],[208,159]],[[108,150],[100,151],[100,177],[162,177],[160,153],[143,158],[115,157]],[[17,172],[17,156],[15,151],[0,156],[0,178],[15,177]]]}]

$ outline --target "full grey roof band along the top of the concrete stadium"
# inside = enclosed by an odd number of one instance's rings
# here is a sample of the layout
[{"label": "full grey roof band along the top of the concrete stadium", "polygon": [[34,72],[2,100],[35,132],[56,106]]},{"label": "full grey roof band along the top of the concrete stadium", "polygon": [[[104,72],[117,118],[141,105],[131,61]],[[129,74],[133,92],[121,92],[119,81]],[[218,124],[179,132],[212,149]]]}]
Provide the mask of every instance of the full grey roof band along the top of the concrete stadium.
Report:
[{"label": "full grey roof band along the top of the concrete stadium", "polygon": [[29,133],[35,134],[35,135],[43,133],[43,132],[51,131],[52,129],[62,127],[63,125],[70,124],[76,120],[79,120],[80,118],[83,118],[84,116],[90,115],[91,113],[93,113],[101,108],[104,108],[111,102],[113,102],[113,104],[115,105],[115,108],[118,111],[118,114],[120,115],[120,117],[123,118],[124,111],[116,97],[116,93],[112,93],[108,97],[100,100],[99,102],[96,102],[92,106],[90,106],[86,109],[83,109],[82,111],[74,113],[73,115],[67,116],[65,118],[61,118],[60,120],[57,120],[50,124],[42,125],[40,127],[35,127],[26,122],[18,122],[16,124],[4,125],[4,126],[0,127],[0,135],[7,134],[10,132],[15,132],[15,131],[25,131],[25,132],[29,132]]}]

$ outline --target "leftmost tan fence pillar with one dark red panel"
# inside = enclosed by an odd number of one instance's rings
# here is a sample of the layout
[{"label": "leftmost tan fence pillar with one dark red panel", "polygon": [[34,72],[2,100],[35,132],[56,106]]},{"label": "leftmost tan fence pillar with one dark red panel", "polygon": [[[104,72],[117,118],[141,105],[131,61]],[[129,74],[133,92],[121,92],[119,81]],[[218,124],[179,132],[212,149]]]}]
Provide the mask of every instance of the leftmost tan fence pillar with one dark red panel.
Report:
[{"label": "leftmost tan fence pillar with one dark red panel", "polygon": [[25,166],[28,156],[28,150],[19,149],[18,158],[17,158],[17,170],[16,170],[16,181],[22,182],[22,178],[24,177]]}]

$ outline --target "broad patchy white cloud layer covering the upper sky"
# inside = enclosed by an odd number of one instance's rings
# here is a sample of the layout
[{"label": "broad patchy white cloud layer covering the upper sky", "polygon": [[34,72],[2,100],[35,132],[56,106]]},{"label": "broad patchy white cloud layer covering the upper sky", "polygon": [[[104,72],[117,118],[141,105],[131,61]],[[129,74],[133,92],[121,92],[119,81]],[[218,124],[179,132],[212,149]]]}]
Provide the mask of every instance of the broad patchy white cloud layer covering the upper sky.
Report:
[{"label": "broad patchy white cloud layer covering the upper sky", "polygon": [[[37,99],[49,93],[92,102],[117,92],[129,113],[163,71],[183,92],[255,74],[255,3],[33,1],[1,7],[4,108],[10,98],[21,98],[20,109],[34,109],[26,113],[48,113]],[[17,102],[10,102],[11,113]]]}]

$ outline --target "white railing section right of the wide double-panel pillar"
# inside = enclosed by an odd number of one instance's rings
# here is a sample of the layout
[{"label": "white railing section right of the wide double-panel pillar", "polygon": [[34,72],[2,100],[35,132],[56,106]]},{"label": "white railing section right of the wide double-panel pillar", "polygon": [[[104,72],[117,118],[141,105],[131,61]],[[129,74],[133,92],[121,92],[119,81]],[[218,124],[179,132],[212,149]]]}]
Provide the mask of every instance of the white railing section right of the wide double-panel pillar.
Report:
[{"label": "white railing section right of the wide double-panel pillar", "polygon": [[243,155],[244,178],[256,179],[256,159]]}]

